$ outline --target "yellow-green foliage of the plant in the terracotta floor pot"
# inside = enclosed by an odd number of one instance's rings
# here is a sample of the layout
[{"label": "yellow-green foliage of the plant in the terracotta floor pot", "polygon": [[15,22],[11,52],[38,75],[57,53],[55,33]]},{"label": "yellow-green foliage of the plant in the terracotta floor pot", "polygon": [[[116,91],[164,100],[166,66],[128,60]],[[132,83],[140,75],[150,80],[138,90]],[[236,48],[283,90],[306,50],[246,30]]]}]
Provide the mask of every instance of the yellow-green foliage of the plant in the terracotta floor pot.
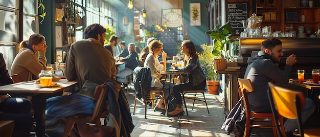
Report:
[{"label": "yellow-green foliage of the plant in the terracotta floor pot", "polygon": [[200,47],[203,51],[198,55],[201,62],[201,67],[205,69],[205,77],[207,80],[217,81],[219,74],[215,73],[214,59],[221,58],[220,49],[217,50],[213,45],[207,44],[201,44]]}]

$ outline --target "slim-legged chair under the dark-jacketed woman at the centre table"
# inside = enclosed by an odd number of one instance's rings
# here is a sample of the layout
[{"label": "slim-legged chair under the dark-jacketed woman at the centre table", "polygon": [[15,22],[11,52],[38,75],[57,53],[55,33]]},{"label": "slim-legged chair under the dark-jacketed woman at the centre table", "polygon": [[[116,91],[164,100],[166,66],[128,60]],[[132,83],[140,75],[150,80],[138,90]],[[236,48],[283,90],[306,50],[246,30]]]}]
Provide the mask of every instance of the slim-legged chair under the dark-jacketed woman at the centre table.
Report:
[{"label": "slim-legged chair under the dark-jacketed woman at the centre table", "polygon": [[[204,97],[204,92],[207,92],[207,90],[206,89],[202,89],[202,90],[184,90],[182,92],[182,99],[184,99],[187,116],[189,116],[189,113],[188,113],[188,109],[187,109],[186,99],[192,99],[193,100],[192,110],[193,110],[194,103],[195,103],[196,100],[205,102],[205,106],[207,106],[208,114],[210,115],[208,104],[207,104],[207,100],[205,100],[205,97]],[[185,94],[191,94],[191,93],[195,94],[194,97],[185,97]],[[197,93],[201,93],[203,95],[204,100],[197,99]]]}]

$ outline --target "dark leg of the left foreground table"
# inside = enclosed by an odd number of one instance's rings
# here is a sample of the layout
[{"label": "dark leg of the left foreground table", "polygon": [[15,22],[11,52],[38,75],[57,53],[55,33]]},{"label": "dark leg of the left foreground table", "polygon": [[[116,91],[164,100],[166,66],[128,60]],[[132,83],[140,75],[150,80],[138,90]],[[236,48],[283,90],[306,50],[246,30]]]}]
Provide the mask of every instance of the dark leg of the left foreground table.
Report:
[{"label": "dark leg of the left foreground table", "polygon": [[36,122],[36,136],[45,136],[45,108],[46,95],[38,94],[33,97],[34,119]]}]

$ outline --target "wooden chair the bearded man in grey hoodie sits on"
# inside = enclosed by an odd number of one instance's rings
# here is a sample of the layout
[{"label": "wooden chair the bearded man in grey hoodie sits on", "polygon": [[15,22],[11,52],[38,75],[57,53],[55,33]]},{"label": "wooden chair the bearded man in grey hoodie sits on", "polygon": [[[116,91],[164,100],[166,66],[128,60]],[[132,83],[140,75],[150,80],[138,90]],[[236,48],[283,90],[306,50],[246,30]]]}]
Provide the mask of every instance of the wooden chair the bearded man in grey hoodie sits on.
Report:
[{"label": "wooden chair the bearded man in grey hoodie sits on", "polygon": [[[275,121],[272,119],[275,118],[273,117],[272,113],[256,113],[250,111],[250,105],[249,105],[249,100],[247,96],[247,92],[253,92],[254,87],[250,79],[240,79],[238,78],[239,82],[239,89],[238,89],[238,94],[239,97],[241,95],[243,96],[243,101],[244,101],[244,107],[245,107],[245,116],[246,116],[246,123],[245,123],[245,129],[244,129],[244,136],[249,136],[250,135],[250,128],[272,128],[273,130],[273,135],[277,136],[277,126],[281,127],[281,130],[284,131],[284,126],[283,126],[283,117],[279,117],[280,123],[275,124]],[[267,119],[271,120],[271,126],[269,121],[266,121]],[[268,122],[265,123],[264,121]],[[256,122],[255,124],[253,122]],[[262,122],[261,125],[258,125],[258,122]],[[277,126],[276,126],[277,125]],[[285,132],[283,132],[285,134]]]}]

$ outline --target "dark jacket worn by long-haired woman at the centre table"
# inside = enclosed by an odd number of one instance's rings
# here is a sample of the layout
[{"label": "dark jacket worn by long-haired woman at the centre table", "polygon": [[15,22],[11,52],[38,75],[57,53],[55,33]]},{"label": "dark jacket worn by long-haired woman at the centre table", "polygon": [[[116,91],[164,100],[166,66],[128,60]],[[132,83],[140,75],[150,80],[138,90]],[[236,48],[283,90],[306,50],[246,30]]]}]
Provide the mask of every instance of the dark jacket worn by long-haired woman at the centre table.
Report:
[{"label": "dark jacket worn by long-haired woman at the centre table", "polygon": [[178,69],[178,71],[188,74],[188,79],[189,81],[192,81],[194,86],[200,84],[201,82],[203,82],[203,80],[205,80],[198,59],[189,59],[187,65],[184,68]]}]

